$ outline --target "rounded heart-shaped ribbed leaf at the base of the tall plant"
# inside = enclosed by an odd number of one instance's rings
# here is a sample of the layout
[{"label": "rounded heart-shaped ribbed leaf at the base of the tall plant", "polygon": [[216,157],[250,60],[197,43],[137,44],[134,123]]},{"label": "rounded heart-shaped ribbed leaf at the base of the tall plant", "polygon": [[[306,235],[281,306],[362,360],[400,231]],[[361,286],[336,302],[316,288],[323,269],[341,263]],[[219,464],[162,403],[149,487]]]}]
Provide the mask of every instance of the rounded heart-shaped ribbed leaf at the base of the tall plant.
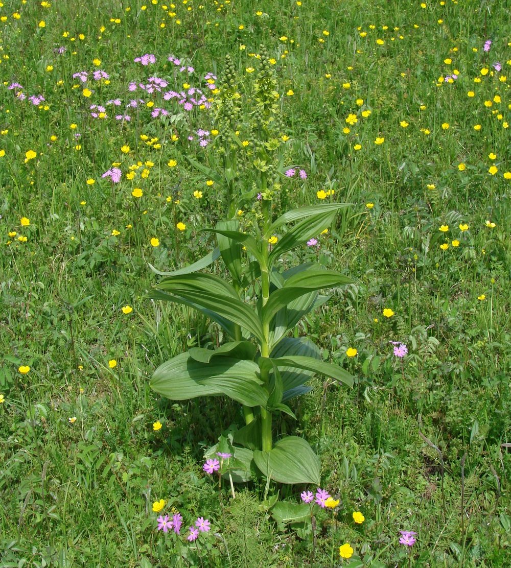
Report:
[{"label": "rounded heart-shaped ribbed leaf at the base of the tall plant", "polygon": [[286,436],[269,452],[255,450],[254,461],[264,475],[279,483],[321,483],[319,458],[304,438]]}]

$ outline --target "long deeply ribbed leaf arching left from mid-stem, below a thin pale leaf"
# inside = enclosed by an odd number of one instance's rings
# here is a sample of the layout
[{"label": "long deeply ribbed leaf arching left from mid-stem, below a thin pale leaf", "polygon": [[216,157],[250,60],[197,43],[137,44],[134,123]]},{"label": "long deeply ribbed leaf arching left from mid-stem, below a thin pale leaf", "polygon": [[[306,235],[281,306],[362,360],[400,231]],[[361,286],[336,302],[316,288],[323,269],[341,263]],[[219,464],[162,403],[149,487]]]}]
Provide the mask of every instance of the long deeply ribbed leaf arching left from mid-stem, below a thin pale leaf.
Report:
[{"label": "long deeply ribbed leaf arching left from mid-stem, below a thin pale leaf", "polygon": [[202,310],[216,312],[253,333],[263,341],[263,329],[255,311],[244,304],[234,287],[213,274],[185,274],[164,278],[157,286],[201,306]]}]

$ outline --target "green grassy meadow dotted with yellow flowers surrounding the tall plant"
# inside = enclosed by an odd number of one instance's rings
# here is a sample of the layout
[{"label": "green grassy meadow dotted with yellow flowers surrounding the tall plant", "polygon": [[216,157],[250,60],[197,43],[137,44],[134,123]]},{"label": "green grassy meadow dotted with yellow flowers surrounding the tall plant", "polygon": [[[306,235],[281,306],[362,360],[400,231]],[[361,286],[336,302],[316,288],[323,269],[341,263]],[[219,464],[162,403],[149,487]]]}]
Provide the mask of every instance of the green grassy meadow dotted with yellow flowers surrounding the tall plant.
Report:
[{"label": "green grassy meadow dotted with yellow flowers surrounding the tall plant", "polygon": [[[3,0],[0,16],[0,565],[508,565],[508,2]],[[185,157],[222,174],[226,54],[248,143],[236,184],[258,179],[260,44],[279,90],[279,171],[308,176],[281,176],[275,211],[329,190],[352,203],[318,247],[289,255],[358,281],[297,329],[356,376],[352,390],[314,378],[292,403],[298,422],[285,421],[340,498],[315,538],[268,510],[304,487],[251,483],[219,499],[203,473],[237,405],[173,403],[148,386],[169,357],[222,340],[193,310],[145,297],[158,278],[148,263],[197,260],[212,242],[200,229],[223,215],[222,183]],[[134,61],[144,54],[156,61]],[[130,90],[149,77],[168,85]],[[203,108],[163,98],[183,83]],[[113,167],[118,183],[102,177]],[[248,229],[257,207],[240,212]],[[160,499],[214,530],[192,545],[158,532]],[[400,530],[416,544],[400,545]],[[342,561],[344,542],[355,554]]]}]

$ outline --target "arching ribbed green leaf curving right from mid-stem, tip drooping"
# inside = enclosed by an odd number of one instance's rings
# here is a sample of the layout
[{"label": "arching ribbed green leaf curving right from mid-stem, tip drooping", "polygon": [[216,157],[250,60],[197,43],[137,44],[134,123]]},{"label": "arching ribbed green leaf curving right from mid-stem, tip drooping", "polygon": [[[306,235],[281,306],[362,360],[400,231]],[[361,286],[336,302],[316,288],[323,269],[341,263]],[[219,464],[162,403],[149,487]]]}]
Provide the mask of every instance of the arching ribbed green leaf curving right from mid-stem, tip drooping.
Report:
[{"label": "arching ribbed green leaf curving right from mid-stem, tip drooping", "polygon": [[279,290],[274,290],[269,295],[268,302],[263,308],[263,324],[269,324],[273,316],[281,310],[281,308],[287,307],[289,302],[300,298],[300,296],[310,294],[313,290],[351,283],[354,283],[353,279],[348,278],[340,272],[334,272],[334,270],[321,270],[318,268],[302,270],[288,278],[284,286]]}]

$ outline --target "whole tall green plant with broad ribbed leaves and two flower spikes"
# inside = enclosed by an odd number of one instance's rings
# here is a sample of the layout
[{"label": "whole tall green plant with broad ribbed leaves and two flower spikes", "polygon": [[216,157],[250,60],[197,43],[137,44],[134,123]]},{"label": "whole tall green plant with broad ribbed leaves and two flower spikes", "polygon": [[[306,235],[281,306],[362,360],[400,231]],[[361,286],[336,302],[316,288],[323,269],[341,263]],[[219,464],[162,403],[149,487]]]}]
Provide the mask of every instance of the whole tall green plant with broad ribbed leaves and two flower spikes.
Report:
[{"label": "whole tall green plant with broad ribbed leaves and two flower spikes", "polygon": [[[337,365],[321,360],[317,345],[306,337],[288,337],[297,329],[300,319],[325,303],[329,296],[319,290],[352,283],[345,275],[325,270],[313,263],[301,264],[280,272],[280,259],[290,250],[304,246],[309,239],[329,228],[343,203],[328,203],[302,207],[272,218],[272,197],[280,188],[277,179],[282,162],[277,140],[281,128],[276,99],[276,81],[268,57],[261,47],[261,72],[256,82],[252,112],[259,136],[253,166],[259,175],[258,187],[248,195],[235,195],[238,174],[217,175],[225,178],[227,220],[214,229],[217,248],[210,254],[166,276],[149,294],[150,298],[185,304],[215,321],[230,336],[231,341],[218,349],[195,347],[160,365],[151,380],[151,387],[173,400],[197,396],[226,395],[243,405],[245,425],[231,427],[219,444],[206,452],[206,457],[220,450],[233,454],[229,474],[234,481],[248,481],[255,467],[267,478],[281,483],[320,482],[319,459],[308,442],[297,436],[280,436],[273,443],[272,416],[284,412],[294,416],[286,404],[295,396],[309,392],[305,386],[314,374],[332,377],[351,386],[353,379]],[[236,100],[234,73],[231,77],[229,101]],[[234,86],[233,86],[234,85]],[[231,92],[232,91],[232,92]],[[225,106],[225,101],[222,102]],[[222,107],[221,107],[222,108]],[[219,130],[225,131],[223,166],[234,172],[232,162],[235,144],[232,122],[236,113],[229,106],[230,119],[222,120]],[[234,118],[233,118],[234,117]],[[222,148],[222,147],[221,147]],[[225,154],[225,155],[224,155]],[[230,157],[231,156],[231,157]],[[190,162],[193,162],[190,160]],[[200,169],[204,166],[197,165]],[[210,170],[206,170],[210,175]],[[255,215],[252,235],[240,231],[235,212],[247,199],[261,194],[262,214]],[[276,239],[276,234],[280,235]],[[272,244],[269,244],[272,243]],[[219,257],[230,279],[198,272]],[[152,268],[152,267],[151,267]]]}]

